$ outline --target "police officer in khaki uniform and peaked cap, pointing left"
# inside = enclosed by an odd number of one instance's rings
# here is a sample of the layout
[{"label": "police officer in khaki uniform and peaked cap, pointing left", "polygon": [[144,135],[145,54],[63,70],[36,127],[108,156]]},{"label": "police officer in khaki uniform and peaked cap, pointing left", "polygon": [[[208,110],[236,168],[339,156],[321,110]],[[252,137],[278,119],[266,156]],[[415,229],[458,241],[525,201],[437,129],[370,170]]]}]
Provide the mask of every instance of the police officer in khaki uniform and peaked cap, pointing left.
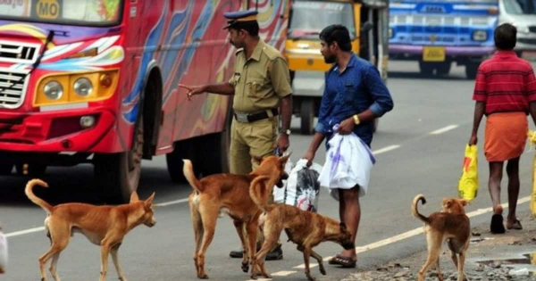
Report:
[{"label": "police officer in khaki uniform and peaked cap, pointing left", "polygon": [[[262,157],[273,154],[274,149],[282,153],[289,148],[292,116],[289,66],[277,49],[259,37],[256,15],[252,10],[224,13],[230,44],[238,49],[234,73],[228,82],[197,87],[179,85],[188,90],[188,98],[205,92],[234,95],[230,172],[239,175],[250,173],[258,165],[251,155]],[[281,130],[278,130],[280,114]],[[242,252],[233,251],[230,256],[241,258]],[[266,260],[281,260],[282,256],[279,244]]]}]

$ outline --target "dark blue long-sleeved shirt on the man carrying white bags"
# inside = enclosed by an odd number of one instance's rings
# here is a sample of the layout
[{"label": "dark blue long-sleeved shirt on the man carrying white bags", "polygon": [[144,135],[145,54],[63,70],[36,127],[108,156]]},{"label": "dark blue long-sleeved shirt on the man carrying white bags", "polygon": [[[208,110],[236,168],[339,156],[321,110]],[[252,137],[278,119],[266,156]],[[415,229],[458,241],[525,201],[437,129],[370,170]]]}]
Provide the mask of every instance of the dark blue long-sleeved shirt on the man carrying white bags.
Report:
[{"label": "dark blue long-sleeved shirt on the man carrying white bags", "polygon": [[[381,117],[393,109],[393,100],[376,67],[352,54],[342,73],[337,65],[327,72],[318,123],[314,130],[329,139],[334,125],[367,109]],[[373,128],[373,122],[361,123],[354,128],[354,133],[370,146]]]}]

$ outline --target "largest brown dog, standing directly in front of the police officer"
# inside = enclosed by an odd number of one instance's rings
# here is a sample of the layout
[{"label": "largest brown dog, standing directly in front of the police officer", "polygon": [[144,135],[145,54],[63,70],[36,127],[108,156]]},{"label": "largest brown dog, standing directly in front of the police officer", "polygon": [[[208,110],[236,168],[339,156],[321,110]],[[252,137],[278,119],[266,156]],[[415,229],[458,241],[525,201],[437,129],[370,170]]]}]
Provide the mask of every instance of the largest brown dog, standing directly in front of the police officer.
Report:
[{"label": "largest brown dog, standing directly in front of the police officer", "polygon": [[229,214],[233,220],[246,252],[242,258],[242,270],[249,270],[249,262],[253,260],[256,252],[256,232],[261,214],[261,210],[249,196],[249,185],[254,178],[267,176],[272,186],[282,186],[281,180],[289,178],[285,172],[285,163],[289,156],[280,158],[271,155],[264,160],[255,158],[255,161],[261,162],[260,166],[248,175],[216,174],[201,180],[194,176],[192,162],[184,160],[184,177],[194,189],[188,202],[196,239],[194,264],[198,278],[208,278],[205,272],[205,252],[214,238],[220,211]]}]

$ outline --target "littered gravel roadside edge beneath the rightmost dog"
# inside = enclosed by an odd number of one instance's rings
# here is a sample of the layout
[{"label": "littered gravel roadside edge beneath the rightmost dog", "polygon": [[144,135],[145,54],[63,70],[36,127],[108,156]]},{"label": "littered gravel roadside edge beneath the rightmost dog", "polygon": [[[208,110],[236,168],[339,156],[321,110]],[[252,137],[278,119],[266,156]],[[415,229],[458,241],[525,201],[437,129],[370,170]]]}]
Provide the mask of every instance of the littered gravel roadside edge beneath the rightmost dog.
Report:
[{"label": "littered gravel roadside edge beneath the rightmost dog", "polygon": [[[468,280],[536,280],[536,219],[532,219],[529,212],[518,214],[518,219],[523,230],[507,230],[503,235],[492,235],[488,225],[473,227],[465,260],[465,276]],[[425,238],[422,237],[425,245]],[[357,269],[359,272],[351,273],[340,281],[416,280],[426,257],[426,251],[417,252],[375,269]],[[440,267],[445,280],[457,280],[456,268],[445,244],[440,255]],[[435,268],[428,271],[425,280],[438,280]]]}]

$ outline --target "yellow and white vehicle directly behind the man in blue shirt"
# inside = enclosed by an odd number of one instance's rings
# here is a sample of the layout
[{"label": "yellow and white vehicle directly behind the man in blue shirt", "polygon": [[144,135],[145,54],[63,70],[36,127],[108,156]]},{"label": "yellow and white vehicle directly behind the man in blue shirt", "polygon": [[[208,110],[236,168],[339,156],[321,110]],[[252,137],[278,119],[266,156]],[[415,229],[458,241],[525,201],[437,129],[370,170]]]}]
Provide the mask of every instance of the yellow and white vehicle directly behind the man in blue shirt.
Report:
[{"label": "yellow and white vehicle directly behind the man in blue shirt", "polygon": [[[350,31],[352,51],[373,62],[387,80],[388,1],[293,0],[285,56],[293,88],[293,112],[301,117],[301,133],[312,134],[324,88],[325,71],[331,68],[320,54],[319,34],[331,24]],[[377,120],[376,120],[377,126]]]}]

